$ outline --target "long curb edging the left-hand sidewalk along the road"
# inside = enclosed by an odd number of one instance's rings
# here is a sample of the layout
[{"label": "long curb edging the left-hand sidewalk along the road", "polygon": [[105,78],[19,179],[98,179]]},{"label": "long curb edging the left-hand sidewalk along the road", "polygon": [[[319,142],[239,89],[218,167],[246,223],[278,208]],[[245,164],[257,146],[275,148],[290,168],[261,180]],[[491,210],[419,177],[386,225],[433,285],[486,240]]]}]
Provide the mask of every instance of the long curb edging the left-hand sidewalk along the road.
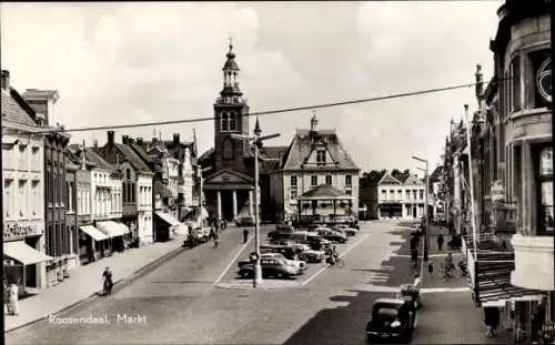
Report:
[{"label": "long curb edging the left-hand sidewalk along the road", "polygon": [[[115,282],[113,282],[113,287],[112,287],[112,293],[117,292],[117,291],[120,291],[121,288],[128,286],[129,284],[133,283],[134,281],[137,281],[138,278],[147,275],[148,273],[154,271],[155,268],[158,268],[159,266],[161,266],[162,264],[164,264],[165,262],[172,260],[173,257],[178,256],[179,254],[181,254],[182,252],[184,252],[186,248],[182,247],[182,246],[179,246],[172,251],[170,251],[169,253],[165,253],[164,255],[160,256],[159,258],[155,258],[154,261],[148,263],[147,265],[140,267],[139,270],[134,271],[133,273],[131,273],[130,275],[128,275],[127,277],[123,277],[123,278],[120,278]],[[10,329],[4,329],[4,335],[9,334],[9,333],[12,333],[14,331],[18,331],[18,329],[21,329],[23,327],[27,327],[27,326],[31,326],[33,324],[37,324],[43,319],[47,319],[49,316],[56,316],[56,315],[59,315],[59,314],[62,314],[73,307],[77,307],[79,305],[82,305],[82,304],[85,304],[88,302],[92,302],[92,301],[95,301],[98,297],[102,297],[98,292],[94,292],[93,294],[84,297],[83,300],[80,300],[80,301],[77,301],[61,310],[59,310],[58,312],[54,312],[52,314],[49,314],[49,315],[44,315],[44,316],[41,316],[37,319],[32,319],[30,322],[27,322],[24,324],[21,324],[19,326],[16,326],[13,328],[10,328]]]}]

